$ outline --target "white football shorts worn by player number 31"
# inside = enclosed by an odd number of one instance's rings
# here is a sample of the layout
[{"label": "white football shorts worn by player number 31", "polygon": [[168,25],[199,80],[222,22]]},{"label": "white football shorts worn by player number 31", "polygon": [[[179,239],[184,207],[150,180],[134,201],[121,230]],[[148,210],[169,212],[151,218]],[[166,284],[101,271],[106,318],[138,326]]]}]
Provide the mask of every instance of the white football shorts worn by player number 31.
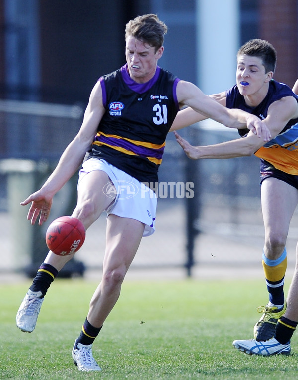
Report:
[{"label": "white football shorts worn by player number 31", "polygon": [[143,236],[150,236],[155,231],[157,197],[153,190],[136,178],[116,168],[103,159],[91,157],[83,162],[79,171],[78,183],[93,170],[102,170],[109,178],[104,187],[104,194],[111,197],[107,215],[114,214],[130,218],[145,224]]}]

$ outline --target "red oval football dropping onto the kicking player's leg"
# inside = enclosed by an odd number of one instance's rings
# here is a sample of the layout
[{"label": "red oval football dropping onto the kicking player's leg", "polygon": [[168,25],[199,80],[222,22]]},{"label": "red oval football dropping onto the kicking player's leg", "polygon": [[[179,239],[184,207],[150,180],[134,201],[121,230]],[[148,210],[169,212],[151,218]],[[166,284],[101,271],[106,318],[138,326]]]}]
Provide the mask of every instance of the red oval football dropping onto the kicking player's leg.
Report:
[{"label": "red oval football dropping onto the kicking player's leg", "polygon": [[71,216],[61,216],[49,225],[46,243],[56,255],[65,256],[77,252],[85,237],[86,231],[80,220]]}]

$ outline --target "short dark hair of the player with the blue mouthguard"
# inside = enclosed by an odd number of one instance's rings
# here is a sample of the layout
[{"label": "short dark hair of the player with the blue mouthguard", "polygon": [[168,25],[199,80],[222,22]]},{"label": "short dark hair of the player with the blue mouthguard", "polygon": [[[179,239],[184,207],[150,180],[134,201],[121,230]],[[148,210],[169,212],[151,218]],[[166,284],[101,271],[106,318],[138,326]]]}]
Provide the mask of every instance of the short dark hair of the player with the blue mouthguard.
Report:
[{"label": "short dark hair of the player with the blue mouthguard", "polygon": [[268,71],[275,71],[276,51],[268,41],[260,40],[258,38],[249,40],[240,47],[237,53],[237,58],[241,54],[261,58],[265,67],[265,73],[268,73]]}]

